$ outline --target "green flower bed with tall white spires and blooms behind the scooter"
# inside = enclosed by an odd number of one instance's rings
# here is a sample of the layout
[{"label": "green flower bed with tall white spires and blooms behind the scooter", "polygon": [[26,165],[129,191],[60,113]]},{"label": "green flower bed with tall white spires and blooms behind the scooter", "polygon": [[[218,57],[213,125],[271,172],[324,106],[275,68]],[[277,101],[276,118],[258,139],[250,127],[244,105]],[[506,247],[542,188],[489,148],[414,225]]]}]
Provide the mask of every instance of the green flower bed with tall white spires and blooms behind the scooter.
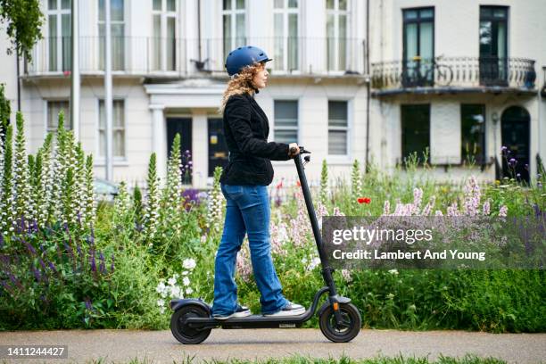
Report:
[{"label": "green flower bed with tall white spires and blooms behind the scooter", "polygon": [[[0,329],[167,328],[170,310],[166,303],[171,297],[201,296],[211,302],[214,254],[225,204],[219,185],[221,168],[215,170],[208,201],[188,203],[178,193],[177,148],[171,153],[164,188],[153,154],[144,204],[137,186],[131,198],[122,184],[113,205],[95,206],[93,159],[87,156],[82,167],[83,151],[62,127],[62,114],[60,123],[55,145],[52,136],[47,136],[35,156],[24,158],[33,202],[34,215],[30,216],[37,217],[37,223],[24,231],[13,230],[12,225],[12,166],[22,166],[13,159],[26,155],[22,120],[14,155],[12,126],[8,128],[2,181],[7,197],[0,199],[4,224],[0,236]],[[445,212],[451,203],[462,206],[467,198],[463,183],[435,183],[419,177],[417,169],[415,173],[406,170],[386,175],[370,166],[362,178],[356,162],[352,172],[350,184],[338,180],[333,186],[332,197],[324,199],[327,206],[321,209],[323,213],[379,216],[385,201],[408,203],[421,192],[419,199],[426,202],[434,197],[434,209]],[[321,182],[325,180],[323,176]],[[542,213],[546,208],[544,182],[540,177],[528,187],[509,180],[484,184],[480,186],[482,200],[490,201],[495,213],[501,206],[508,206],[512,216]],[[54,189],[55,183],[61,185]],[[289,189],[283,191],[287,196],[300,195],[296,194],[299,186],[277,188]],[[363,191],[370,203],[356,204],[355,197]],[[82,206],[85,219],[80,226],[74,221],[74,211],[83,211]],[[56,215],[46,213],[51,209]],[[161,209],[170,212],[159,215]],[[275,207],[271,216],[272,258],[283,293],[309,307],[313,294],[324,283],[301,197]],[[260,294],[246,271],[250,264],[247,243],[240,258],[238,299],[258,313]],[[364,327],[546,330],[543,270],[341,270],[335,271],[334,277],[339,294],[351,297],[360,309]],[[317,327],[316,318],[306,325]]]}]

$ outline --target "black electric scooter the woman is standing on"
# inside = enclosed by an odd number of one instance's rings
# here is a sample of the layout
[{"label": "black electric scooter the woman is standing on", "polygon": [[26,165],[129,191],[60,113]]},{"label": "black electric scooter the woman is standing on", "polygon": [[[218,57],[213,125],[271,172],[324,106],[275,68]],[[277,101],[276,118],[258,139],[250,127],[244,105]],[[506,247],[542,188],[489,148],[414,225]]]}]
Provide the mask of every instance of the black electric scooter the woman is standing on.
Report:
[{"label": "black electric scooter the woman is standing on", "polygon": [[322,245],[317,215],[311,201],[310,189],[305,178],[304,164],[310,161],[310,154],[300,146],[300,153],[294,157],[298,177],[302,186],[305,205],[309,213],[313,236],[317,244],[318,256],[322,267],[322,277],[325,286],[320,288],[313,298],[309,308],[298,316],[262,316],[252,315],[244,318],[215,319],[211,316],[211,306],[201,298],[174,299],[170,301],[170,308],[174,310],[170,318],[170,331],[180,343],[203,343],[211,334],[213,328],[278,328],[302,327],[302,324],[313,317],[317,310],[318,300],[323,294],[328,294],[327,301],[318,309],[318,323],[322,334],[335,343],[347,343],[359,335],[362,319],[359,310],[351,303],[351,299],[337,294],[326,252]]}]

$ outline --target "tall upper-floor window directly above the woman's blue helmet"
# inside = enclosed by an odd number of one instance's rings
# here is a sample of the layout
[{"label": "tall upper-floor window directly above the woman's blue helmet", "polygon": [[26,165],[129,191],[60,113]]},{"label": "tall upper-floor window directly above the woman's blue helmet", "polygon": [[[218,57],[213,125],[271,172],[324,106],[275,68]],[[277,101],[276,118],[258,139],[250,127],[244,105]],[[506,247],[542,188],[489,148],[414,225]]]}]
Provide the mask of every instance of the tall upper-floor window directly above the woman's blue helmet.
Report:
[{"label": "tall upper-floor window directly above the woman's blue helmet", "polygon": [[245,0],[223,0],[224,59],[237,46],[246,43]]}]

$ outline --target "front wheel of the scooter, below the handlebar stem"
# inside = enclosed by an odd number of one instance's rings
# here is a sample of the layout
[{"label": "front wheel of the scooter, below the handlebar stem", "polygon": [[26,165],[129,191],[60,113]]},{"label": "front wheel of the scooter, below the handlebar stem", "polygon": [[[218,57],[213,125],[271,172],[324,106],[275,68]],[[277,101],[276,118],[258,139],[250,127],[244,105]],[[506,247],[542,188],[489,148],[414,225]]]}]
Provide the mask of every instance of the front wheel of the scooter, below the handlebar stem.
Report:
[{"label": "front wheel of the scooter, below the handlebar stem", "polygon": [[339,312],[343,321],[341,325],[337,324],[332,306],[322,311],[318,318],[318,325],[328,340],[334,343],[348,343],[359,335],[362,318],[360,318],[359,309],[352,303],[340,303]]}]

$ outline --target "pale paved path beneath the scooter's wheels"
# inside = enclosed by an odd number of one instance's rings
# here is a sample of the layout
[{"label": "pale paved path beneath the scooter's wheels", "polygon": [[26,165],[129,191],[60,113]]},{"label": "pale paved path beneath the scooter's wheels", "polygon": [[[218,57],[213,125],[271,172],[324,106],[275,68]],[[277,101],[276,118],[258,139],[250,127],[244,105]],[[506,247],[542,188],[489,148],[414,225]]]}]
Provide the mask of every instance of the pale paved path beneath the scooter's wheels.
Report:
[{"label": "pale paved path beneath the scooter's wheels", "polygon": [[170,330],[20,331],[0,332],[0,344],[68,345],[69,360],[46,360],[46,363],[85,362],[101,357],[108,363],[134,358],[172,363],[173,360],[181,362],[188,356],[194,356],[195,362],[279,358],[294,354],[339,358],[343,352],[353,359],[401,353],[404,356],[428,356],[434,360],[441,353],[459,357],[475,353],[508,362],[546,363],[546,334],[497,335],[464,331],[363,330],[352,343],[330,343],[318,329],[215,329],[199,345],[178,343]]}]

